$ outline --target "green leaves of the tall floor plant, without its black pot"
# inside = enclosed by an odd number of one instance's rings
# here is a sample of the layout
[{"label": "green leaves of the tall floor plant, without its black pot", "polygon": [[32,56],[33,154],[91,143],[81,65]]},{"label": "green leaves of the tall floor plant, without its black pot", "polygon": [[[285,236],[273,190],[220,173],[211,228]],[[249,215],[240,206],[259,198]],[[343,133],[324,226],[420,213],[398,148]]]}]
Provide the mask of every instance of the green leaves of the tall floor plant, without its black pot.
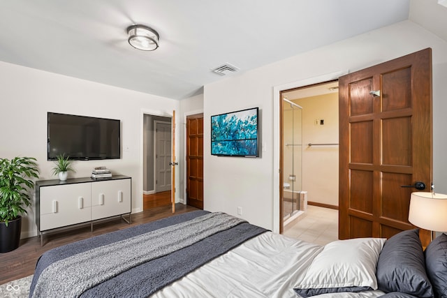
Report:
[{"label": "green leaves of the tall floor plant, without its black pot", "polygon": [[0,222],[8,222],[27,214],[24,206],[31,205],[29,191],[34,188],[31,178],[38,178],[36,158],[0,158]]}]

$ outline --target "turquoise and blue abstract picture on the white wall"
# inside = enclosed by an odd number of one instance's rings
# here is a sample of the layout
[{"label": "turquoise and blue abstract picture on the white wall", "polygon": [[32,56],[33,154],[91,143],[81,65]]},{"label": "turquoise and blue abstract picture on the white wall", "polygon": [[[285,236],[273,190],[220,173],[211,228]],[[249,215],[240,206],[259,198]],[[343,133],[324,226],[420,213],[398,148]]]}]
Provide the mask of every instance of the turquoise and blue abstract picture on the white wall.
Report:
[{"label": "turquoise and blue abstract picture on the white wall", "polygon": [[211,154],[259,156],[258,107],[211,117]]}]

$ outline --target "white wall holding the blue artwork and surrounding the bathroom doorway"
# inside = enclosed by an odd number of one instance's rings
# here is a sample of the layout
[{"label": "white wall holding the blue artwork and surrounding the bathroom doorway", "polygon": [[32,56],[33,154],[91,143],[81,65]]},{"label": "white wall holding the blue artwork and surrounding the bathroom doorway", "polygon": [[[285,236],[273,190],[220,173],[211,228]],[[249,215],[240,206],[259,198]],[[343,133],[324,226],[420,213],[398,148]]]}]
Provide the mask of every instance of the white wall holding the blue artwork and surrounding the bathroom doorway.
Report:
[{"label": "white wall holding the blue artwork and surrounding the bathroom doorway", "polygon": [[[291,37],[292,38],[292,37]],[[278,45],[280,46],[280,45]],[[356,71],[411,52],[433,49],[433,103],[434,103],[434,182],[447,181],[447,151],[441,130],[447,126],[447,42],[434,36],[417,24],[406,21],[369,33],[355,36],[278,61],[268,66],[207,84],[204,88],[205,114],[205,209],[225,211],[242,217],[255,225],[277,231],[279,228],[279,162],[275,155],[279,144],[278,103],[274,102],[274,87],[291,82],[312,82],[312,78],[344,70]],[[310,83],[309,83],[310,84]],[[210,117],[246,107],[261,110],[263,151],[260,158],[223,158],[210,155]],[[276,141],[275,141],[276,142]],[[437,182],[438,181],[438,182]],[[276,185],[275,185],[276,184]],[[438,185],[439,192],[447,192],[447,184]]]}]

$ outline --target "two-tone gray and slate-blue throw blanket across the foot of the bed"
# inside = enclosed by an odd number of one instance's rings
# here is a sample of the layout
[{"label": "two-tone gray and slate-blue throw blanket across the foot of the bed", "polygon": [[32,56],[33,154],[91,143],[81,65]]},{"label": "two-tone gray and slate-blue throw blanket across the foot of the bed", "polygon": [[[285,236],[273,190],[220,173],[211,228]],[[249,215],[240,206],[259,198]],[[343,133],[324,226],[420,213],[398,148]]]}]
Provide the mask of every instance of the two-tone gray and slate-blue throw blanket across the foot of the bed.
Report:
[{"label": "two-tone gray and slate-blue throw blanket across the foot of the bed", "polygon": [[[36,269],[38,278],[31,285],[30,297],[147,297],[242,241],[265,232],[228,214],[201,212],[186,221],[55,257],[57,260],[45,268]],[[198,256],[200,251],[210,253]],[[178,252],[189,252],[187,258],[197,260],[192,265],[179,262]],[[59,249],[59,254],[66,253]]]}]

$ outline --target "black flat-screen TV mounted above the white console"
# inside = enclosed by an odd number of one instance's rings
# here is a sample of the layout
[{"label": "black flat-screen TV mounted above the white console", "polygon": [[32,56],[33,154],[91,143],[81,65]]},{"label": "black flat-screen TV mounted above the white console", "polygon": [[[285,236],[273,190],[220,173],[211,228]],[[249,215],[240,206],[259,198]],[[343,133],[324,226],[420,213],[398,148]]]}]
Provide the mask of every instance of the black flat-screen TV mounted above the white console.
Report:
[{"label": "black flat-screen TV mounted above the white console", "polygon": [[47,160],[121,158],[119,120],[48,112]]}]

